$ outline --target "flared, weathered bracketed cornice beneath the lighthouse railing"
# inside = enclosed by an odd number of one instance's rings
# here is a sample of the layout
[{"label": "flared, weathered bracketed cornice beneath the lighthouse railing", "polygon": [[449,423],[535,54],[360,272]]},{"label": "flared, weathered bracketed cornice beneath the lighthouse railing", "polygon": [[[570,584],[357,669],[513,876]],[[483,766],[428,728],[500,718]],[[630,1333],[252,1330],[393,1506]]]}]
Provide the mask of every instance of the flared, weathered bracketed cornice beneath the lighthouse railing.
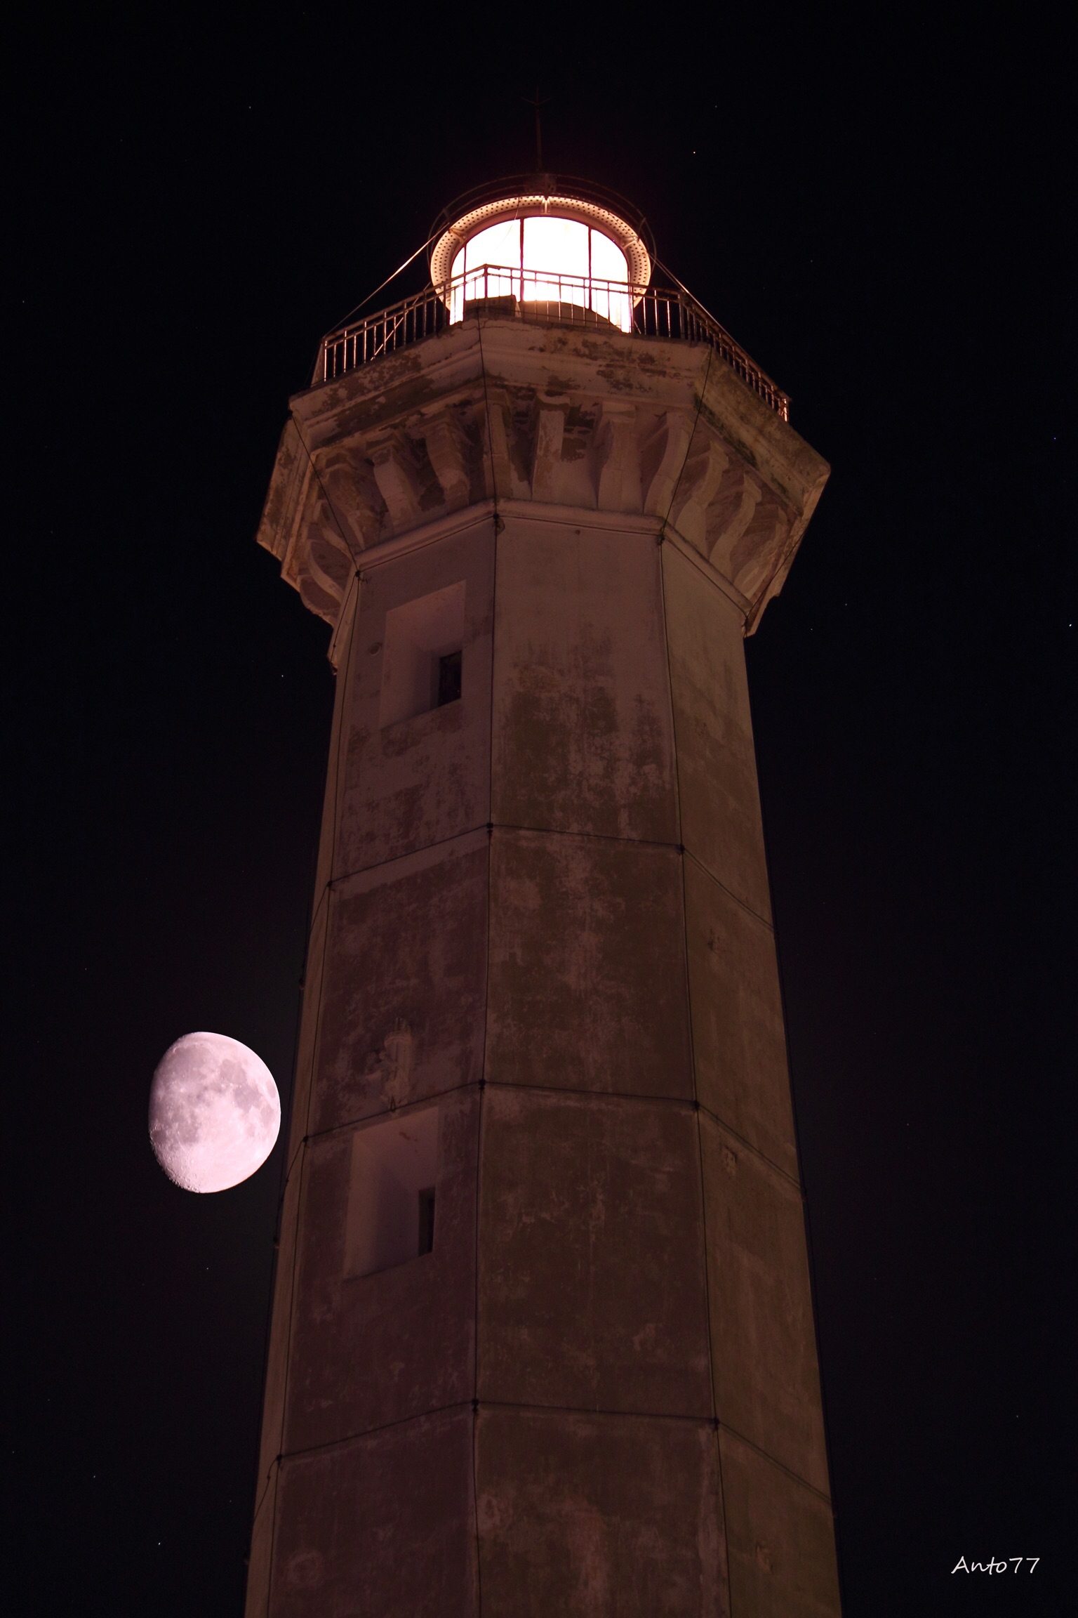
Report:
[{"label": "flared, weathered bracketed cornice beneath the lighthouse railing", "polygon": [[259,544],[333,626],[357,566],[496,503],[663,529],[752,633],[829,471],[710,345],[595,328],[469,320],[291,406]]}]

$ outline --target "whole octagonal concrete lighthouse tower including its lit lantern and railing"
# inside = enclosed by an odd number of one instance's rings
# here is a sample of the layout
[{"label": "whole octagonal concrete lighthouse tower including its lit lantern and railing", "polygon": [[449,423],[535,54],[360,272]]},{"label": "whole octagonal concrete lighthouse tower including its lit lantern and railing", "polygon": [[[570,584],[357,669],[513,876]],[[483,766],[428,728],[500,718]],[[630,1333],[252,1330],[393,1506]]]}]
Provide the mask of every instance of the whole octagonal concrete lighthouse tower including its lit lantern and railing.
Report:
[{"label": "whole octagonal concrete lighthouse tower including its lit lantern and railing", "polygon": [[553,175],[326,337],[336,714],[249,1618],[839,1612],[742,637],[827,476]]}]

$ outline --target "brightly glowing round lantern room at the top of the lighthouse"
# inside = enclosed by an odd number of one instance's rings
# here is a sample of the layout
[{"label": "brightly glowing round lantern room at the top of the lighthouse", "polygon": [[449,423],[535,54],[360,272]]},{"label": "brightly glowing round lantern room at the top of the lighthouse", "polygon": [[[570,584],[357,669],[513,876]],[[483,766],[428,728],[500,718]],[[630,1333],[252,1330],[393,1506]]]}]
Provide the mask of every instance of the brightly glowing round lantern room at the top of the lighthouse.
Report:
[{"label": "brightly glowing round lantern room at the top of the lighthouse", "polygon": [[430,278],[451,322],[517,303],[567,304],[629,332],[651,278],[646,227],[632,218],[621,197],[598,197],[582,183],[553,175],[503,181],[495,193],[462,197],[438,222]]}]

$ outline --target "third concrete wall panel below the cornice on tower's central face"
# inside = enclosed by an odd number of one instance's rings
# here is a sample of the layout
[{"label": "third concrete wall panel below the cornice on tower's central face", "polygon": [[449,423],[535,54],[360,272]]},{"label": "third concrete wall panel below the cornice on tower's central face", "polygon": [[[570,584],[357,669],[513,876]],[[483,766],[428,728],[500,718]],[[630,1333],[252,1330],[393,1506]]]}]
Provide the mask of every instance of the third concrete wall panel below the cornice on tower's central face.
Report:
[{"label": "third concrete wall panel below the cornice on tower's central face", "polygon": [[490,1089],[480,1173],[480,1398],[708,1417],[692,1108]]}]

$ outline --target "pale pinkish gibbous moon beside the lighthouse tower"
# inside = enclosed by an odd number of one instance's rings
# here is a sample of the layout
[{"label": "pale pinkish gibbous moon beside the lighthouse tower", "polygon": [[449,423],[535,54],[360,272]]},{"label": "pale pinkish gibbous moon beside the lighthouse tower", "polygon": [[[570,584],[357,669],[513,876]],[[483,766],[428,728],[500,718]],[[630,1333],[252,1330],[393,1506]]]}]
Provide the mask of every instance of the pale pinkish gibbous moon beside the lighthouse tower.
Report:
[{"label": "pale pinkish gibbous moon beside the lighthouse tower", "polygon": [[150,1146],[184,1191],[228,1191],[249,1180],[280,1128],[273,1074],[228,1034],[184,1034],[154,1071]]}]

